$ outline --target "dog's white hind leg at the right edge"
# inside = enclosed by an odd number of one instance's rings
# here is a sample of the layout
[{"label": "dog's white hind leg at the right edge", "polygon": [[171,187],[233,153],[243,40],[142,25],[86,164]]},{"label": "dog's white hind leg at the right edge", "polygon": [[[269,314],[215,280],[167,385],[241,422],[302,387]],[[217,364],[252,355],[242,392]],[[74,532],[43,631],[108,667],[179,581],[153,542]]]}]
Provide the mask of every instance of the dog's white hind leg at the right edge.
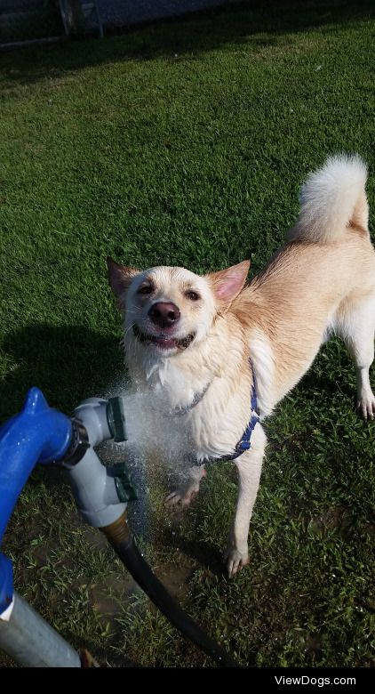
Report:
[{"label": "dog's white hind leg at the right edge", "polygon": [[344,340],[355,364],[358,411],[363,419],[373,419],[375,396],[371,390],[369,370],[374,359],[375,294],[361,299],[346,299],[339,306],[334,328]]}]

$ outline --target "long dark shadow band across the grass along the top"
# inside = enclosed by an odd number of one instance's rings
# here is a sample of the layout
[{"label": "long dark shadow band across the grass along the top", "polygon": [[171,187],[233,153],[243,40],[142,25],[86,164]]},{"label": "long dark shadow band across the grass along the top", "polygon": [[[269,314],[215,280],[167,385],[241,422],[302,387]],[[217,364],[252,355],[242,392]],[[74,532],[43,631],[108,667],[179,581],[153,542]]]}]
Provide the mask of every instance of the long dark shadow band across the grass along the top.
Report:
[{"label": "long dark shadow band across the grass along the top", "polygon": [[[370,20],[371,0],[254,0],[230,4],[198,14],[160,20],[127,28],[116,40],[84,39],[64,44],[44,44],[1,55],[0,84],[28,84],[59,77],[85,67],[127,60],[152,60],[189,56],[226,44],[251,41],[259,48],[277,43],[278,36]],[[269,36],[269,35],[273,36]]]}]

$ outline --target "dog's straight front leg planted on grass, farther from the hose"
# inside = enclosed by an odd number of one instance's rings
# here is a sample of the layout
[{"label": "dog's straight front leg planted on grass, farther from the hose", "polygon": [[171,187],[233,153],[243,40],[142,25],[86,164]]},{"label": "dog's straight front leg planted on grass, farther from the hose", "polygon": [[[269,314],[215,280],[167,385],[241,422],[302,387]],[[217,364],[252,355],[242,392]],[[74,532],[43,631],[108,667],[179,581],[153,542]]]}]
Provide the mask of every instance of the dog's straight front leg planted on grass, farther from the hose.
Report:
[{"label": "dog's straight front leg planted on grass, farther from the hose", "polygon": [[261,424],[257,424],[252,432],[251,448],[235,460],[238,473],[237,505],[224,553],[229,577],[235,576],[238,569],[249,563],[247,538],[266,444],[266,434]]}]

